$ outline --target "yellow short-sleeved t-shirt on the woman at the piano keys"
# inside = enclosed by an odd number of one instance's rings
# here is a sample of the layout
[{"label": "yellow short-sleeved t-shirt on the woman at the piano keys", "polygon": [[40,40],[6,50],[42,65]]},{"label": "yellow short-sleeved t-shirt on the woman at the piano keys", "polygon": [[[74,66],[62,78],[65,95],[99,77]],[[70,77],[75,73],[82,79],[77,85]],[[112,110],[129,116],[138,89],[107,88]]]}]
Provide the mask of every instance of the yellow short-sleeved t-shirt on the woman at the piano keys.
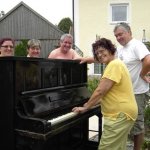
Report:
[{"label": "yellow short-sleeved t-shirt on the woman at the piano keys", "polygon": [[115,82],[111,90],[101,101],[101,111],[105,117],[116,119],[120,112],[128,118],[136,120],[137,104],[133,93],[133,87],[129,71],[125,64],[115,59],[105,68],[101,79],[107,78]]}]

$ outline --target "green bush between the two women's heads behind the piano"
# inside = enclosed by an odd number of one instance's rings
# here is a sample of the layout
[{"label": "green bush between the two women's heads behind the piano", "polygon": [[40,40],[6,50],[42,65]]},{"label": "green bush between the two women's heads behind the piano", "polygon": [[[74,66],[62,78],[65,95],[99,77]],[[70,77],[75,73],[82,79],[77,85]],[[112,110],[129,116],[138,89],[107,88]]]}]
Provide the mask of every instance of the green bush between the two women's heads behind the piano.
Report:
[{"label": "green bush between the two women's heads behind the piano", "polygon": [[27,56],[27,42],[28,40],[21,40],[15,47],[15,56]]}]

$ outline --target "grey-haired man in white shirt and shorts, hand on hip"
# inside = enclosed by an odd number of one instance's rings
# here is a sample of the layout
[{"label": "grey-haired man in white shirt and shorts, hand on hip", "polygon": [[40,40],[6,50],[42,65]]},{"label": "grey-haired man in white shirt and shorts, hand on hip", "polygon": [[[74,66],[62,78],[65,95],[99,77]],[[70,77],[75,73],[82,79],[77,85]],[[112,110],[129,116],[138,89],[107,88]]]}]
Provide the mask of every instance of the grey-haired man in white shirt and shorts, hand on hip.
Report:
[{"label": "grey-haired man in white shirt and shorts, hand on hip", "polygon": [[144,140],[144,109],[146,92],[149,91],[150,52],[141,42],[132,38],[130,26],[126,23],[117,24],[114,35],[122,45],[118,57],[126,64],[132,79],[135,98],[138,105],[138,118],[131,131],[134,139],[134,150],[140,150]]}]

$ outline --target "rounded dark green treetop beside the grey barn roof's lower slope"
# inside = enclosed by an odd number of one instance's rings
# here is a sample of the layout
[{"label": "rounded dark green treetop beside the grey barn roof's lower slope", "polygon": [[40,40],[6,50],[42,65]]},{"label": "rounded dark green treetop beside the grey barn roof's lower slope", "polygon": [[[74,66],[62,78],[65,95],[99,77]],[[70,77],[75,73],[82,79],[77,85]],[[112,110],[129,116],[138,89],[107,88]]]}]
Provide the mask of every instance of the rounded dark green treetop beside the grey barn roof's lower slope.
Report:
[{"label": "rounded dark green treetop beside the grey barn roof's lower slope", "polygon": [[69,33],[71,27],[72,21],[70,18],[63,18],[58,24],[58,29],[60,29],[64,33]]}]

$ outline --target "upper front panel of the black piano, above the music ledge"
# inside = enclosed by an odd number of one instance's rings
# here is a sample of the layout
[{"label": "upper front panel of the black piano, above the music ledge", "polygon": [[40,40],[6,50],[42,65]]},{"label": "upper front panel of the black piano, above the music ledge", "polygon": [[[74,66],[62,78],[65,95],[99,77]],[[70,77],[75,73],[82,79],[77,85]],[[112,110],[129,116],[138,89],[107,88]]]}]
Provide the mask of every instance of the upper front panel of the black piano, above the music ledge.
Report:
[{"label": "upper front panel of the black piano, above the music ledge", "polygon": [[87,83],[87,65],[78,61],[16,61],[18,92]]}]

